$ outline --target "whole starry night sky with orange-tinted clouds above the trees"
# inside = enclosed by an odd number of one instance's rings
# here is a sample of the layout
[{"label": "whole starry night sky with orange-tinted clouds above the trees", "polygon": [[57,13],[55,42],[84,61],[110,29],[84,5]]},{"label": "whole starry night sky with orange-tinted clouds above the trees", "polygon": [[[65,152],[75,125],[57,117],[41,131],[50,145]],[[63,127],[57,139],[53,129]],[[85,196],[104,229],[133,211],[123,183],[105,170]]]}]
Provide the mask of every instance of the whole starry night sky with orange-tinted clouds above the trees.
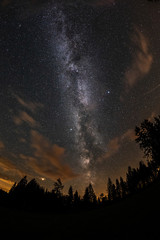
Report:
[{"label": "whole starry night sky with orange-tinted clouds above the trees", "polygon": [[[80,193],[143,159],[160,113],[160,2],[0,2],[0,187],[27,175]],[[145,160],[144,160],[145,161]]]}]

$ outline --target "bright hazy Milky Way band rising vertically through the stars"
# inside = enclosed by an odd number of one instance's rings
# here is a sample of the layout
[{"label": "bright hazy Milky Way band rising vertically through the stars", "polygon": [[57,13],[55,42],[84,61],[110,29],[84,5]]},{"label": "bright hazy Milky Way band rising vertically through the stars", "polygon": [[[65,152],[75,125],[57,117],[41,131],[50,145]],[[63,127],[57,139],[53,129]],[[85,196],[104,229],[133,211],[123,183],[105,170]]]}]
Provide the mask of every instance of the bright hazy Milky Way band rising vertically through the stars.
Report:
[{"label": "bright hazy Milky Way band rising vertically through the stars", "polygon": [[[94,171],[94,161],[103,151],[103,137],[98,132],[95,108],[99,89],[93,59],[83,54],[83,32],[76,33],[62,9],[55,8],[54,52],[59,66],[59,86],[68,130],[87,176]],[[58,31],[58,27],[61,28]],[[92,171],[92,174],[91,172]]]}]

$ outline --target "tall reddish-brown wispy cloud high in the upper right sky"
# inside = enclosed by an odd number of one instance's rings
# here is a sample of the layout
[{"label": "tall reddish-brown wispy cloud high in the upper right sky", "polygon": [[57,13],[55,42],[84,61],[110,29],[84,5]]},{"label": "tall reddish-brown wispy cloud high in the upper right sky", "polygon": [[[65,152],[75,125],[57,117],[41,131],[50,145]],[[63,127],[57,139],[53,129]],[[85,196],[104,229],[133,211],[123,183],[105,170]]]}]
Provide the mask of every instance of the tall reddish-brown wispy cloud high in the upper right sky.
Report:
[{"label": "tall reddish-brown wispy cloud high in the upper right sky", "polygon": [[151,69],[153,56],[149,52],[147,38],[138,29],[132,36],[132,43],[135,46],[131,66],[125,73],[126,91],[132,88],[140,79],[142,79]]}]

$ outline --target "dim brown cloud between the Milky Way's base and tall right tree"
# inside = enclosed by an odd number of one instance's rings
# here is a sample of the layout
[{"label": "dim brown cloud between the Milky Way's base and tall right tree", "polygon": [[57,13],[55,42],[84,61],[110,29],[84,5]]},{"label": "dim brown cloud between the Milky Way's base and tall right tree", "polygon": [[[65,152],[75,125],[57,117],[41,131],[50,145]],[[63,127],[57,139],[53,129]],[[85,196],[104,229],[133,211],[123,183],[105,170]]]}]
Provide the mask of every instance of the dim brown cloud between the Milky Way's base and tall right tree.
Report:
[{"label": "dim brown cloud between the Milky Way's base and tall right tree", "polygon": [[102,161],[112,157],[120,150],[124,142],[135,141],[135,138],[136,136],[133,129],[128,129],[123,135],[113,138],[107,145],[107,152],[99,160]]}]

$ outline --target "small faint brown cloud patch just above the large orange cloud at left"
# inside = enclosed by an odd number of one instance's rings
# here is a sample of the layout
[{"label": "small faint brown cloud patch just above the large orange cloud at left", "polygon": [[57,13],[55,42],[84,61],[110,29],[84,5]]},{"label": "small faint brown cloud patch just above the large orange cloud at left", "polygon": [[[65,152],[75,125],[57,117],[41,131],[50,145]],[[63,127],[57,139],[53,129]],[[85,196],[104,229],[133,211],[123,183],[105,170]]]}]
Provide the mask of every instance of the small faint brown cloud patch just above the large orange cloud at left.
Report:
[{"label": "small faint brown cloud patch just above the large orange cloud at left", "polygon": [[28,113],[22,111],[19,116],[15,116],[13,121],[16,125],[21,125],[23,122],[27,123],[30,127],[38,126],[38,122],[36,122]]}]

